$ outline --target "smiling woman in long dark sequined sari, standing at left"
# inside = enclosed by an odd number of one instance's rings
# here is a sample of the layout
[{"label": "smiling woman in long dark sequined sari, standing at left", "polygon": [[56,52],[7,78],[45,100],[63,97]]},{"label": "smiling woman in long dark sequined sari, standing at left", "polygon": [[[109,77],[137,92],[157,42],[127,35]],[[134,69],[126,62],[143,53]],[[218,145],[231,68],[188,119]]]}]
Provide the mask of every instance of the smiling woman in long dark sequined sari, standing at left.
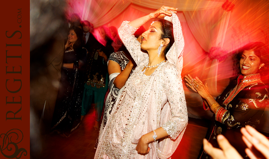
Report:
[{"label": "smiling woman in long dark sequined sari, standing at left", "polygon": [[82,30],[71,27],[65,44],[60,87],[51,124],[52,131],[65,137],[69,137],[71,131],[80,124],[87,56],[87,49],[82,47],[82,42]]}]

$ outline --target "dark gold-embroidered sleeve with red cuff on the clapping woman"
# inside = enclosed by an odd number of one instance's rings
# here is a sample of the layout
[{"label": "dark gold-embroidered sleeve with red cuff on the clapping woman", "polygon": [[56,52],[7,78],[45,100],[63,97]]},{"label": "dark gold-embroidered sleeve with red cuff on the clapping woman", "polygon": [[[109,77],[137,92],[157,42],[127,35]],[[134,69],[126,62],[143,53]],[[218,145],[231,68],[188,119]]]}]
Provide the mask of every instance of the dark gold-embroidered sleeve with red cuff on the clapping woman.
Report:
[{"label": "dark gold-embroidered sleeve with red cuff on the clapping woman", "polygon": [[219,108],[215,120],[226,125],[228,129],[240,125],[254,126],[259,124],[259,119],[268,103],[267,91],[261,89],[261,84],[246,87],[244,95],[234,98],[228,103],[226,109]]}]

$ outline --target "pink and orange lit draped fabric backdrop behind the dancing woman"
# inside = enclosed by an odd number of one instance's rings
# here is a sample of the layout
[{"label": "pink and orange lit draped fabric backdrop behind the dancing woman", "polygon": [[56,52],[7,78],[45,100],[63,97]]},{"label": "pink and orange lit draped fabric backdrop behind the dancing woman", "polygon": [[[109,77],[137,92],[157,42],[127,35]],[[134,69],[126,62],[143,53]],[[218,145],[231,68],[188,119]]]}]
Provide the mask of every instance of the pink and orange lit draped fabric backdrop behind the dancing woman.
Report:
[{"label": "pink and orange lit draped fabric backdrop behind the dancing woman", "polygon": [[[67,18],[78,13],[94,28],[118,28],[124,20],[132,21],[162,5],[178,8],[185,41],[181,76],[197,76],[215,97],[234,77],[231,52],[249,42],[269,41],[267,0],[67,0],[67,5]],[[147,29],[152,21],[143,26]],[[212,113],[203,111],[201,97],[184,89],[188,115],[210,119]]]}]

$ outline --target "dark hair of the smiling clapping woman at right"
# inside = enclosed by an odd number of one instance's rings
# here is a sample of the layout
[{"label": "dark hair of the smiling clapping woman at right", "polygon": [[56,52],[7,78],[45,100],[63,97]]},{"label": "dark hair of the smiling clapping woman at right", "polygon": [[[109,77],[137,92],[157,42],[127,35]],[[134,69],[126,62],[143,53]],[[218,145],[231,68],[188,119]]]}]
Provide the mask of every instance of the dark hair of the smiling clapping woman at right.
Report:
[{"label": "dark hair of the smiling clapping woman at right", "polygon": [[259,69],[257,73],[261,74],[261,77],[265,77],[262,79],[263,81],[267,80],[268,66],[269,66],[269,60],[268,60],[269,50],[268,50],[268,47],[262,42],[248,43],[247,45],[239,49],[239,52],[234,56],[235,68],[237,69],[237,72],[236,72],[237,75],[241,73],[239,62],[245,50],[253,50],[254,54],[260,58],[261,63],[264,63],[264,66],[261,67],[261,69]]}]

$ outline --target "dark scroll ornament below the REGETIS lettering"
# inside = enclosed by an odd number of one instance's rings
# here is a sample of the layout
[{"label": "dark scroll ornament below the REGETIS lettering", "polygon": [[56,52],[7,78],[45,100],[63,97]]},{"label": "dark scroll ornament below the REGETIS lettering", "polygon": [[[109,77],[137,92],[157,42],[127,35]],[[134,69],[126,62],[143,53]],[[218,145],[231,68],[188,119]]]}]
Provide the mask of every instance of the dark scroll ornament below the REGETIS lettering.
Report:
[{"label": "dark scroll ornament below the REGETIS lettering", "polygon": [[19,159],[22,155],[27,155],[26,149],[19,148],[17,145],[23,139],[22,131],[19,129],[11,129],[10,131],[7,131],[6,134],[1,134],[0,138],[3,139],[3,144],[0,145],[0,151],[5,158]]}]

